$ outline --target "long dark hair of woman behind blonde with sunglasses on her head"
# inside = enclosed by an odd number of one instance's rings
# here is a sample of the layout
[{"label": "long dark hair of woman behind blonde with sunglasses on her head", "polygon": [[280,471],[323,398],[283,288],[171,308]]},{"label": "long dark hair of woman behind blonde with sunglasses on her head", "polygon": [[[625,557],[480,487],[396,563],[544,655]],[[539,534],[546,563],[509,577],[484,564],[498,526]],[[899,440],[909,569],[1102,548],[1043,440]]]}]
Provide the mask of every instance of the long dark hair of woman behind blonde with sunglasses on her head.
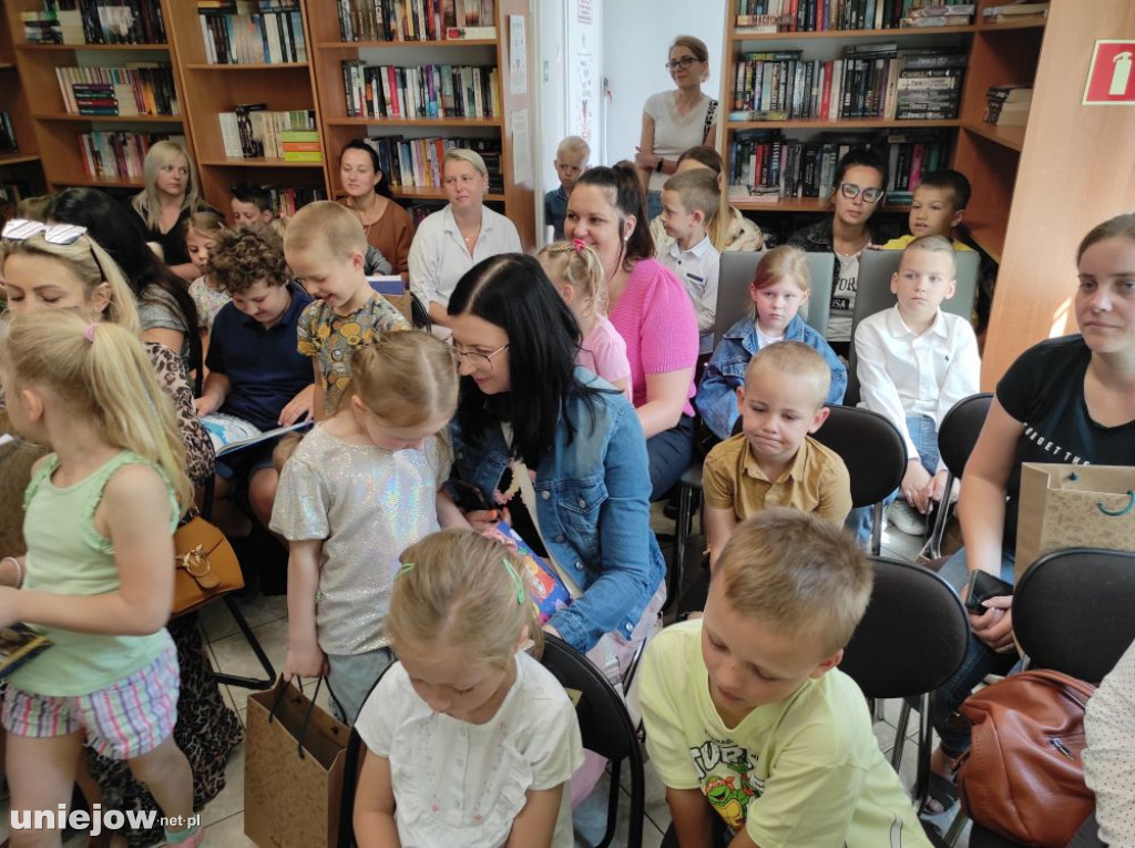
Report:
[{"label": "long dark hair of woman behind blonde with sunglasses on her head", "polygon": [[135,216],[98,188],[68,188],[61,192],[48,211],[48,216],[64,224],[86,227],[87,234],[123,269],[135,300],[141,300],[142,292],[150,285],[158,286],[174,299],[185,320],[185,336],[190,343],[190,368],[201,375],[197,308],[190,296],[190,287],[150,250],[145,237],[134,224]]}]

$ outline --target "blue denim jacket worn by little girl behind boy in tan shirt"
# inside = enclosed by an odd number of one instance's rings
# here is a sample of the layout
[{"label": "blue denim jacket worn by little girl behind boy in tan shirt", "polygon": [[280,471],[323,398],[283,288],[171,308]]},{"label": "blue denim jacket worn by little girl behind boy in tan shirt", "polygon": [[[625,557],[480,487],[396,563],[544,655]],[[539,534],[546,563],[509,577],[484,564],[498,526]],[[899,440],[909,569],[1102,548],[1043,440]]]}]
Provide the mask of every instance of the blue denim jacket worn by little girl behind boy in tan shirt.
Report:
[{"label": "blue denim jacket worn by little girl behind boy in tan shirt", "polygon": [[[832,369],[832,387],[827,392],[826,403],[843,403],[848,369],[824,337],[797,316],[785,328],[784,341],[804,342],[819,352]],[[745,385],[745,369],[749,367],[749,360],[757,350],[756,325],[751,317],[742,318],[722,337],[701,375],[701,385],[698,386],[693,402],[701,413],[701,420],[717,438],[726,439],[733,435],[733,425],[740,414],[737,409],[737,389]]]}]

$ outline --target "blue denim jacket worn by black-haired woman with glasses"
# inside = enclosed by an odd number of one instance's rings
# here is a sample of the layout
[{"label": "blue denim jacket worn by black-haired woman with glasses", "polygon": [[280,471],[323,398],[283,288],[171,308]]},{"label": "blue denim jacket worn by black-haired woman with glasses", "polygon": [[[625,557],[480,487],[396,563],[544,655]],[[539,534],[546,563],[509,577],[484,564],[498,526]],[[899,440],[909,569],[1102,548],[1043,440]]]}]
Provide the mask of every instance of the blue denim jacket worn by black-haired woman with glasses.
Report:
[{"label": "blue denim jacket worn by black-haired woman with glasses", "polygon": [[[577,375],[585,385],[611,388],[582,368]],[[650,530],[646,439],[634,408],[614,391],[568,403],[574,439],[566,444],[561,417],[555,443],[536,469],[533,488],[545,546],[583,591],[548,623],[583,652],[609,631],[630,637],[666,565]],[[449,430],[455,470],[491,502],[508,464],[504,435],[491,428],[471,446],[456,419]]]}]

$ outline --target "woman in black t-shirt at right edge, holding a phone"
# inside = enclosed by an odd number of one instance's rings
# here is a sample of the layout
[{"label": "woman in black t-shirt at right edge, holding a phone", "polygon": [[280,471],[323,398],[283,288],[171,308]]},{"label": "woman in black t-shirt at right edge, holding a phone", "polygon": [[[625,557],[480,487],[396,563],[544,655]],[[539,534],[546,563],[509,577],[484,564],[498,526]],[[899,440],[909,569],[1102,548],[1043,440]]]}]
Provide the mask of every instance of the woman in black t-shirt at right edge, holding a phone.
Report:
[{"label": "woman in black t-shirt at right edge, holding a phone", "polygon": [[[1012,581],[1023,462],[1135,465],[1135,215],[1092,229],[1076,261],[1079,335],[1041,342],[1014,362],[966,465],[958,501],[966,545],[941,572],[959,589],[967,570]],[[1016,661],[1012,597],[985,607],[970,615],[976,638],[966,662],[936,695],[942,746],[932,765],[940,778],[969,747],[968,728],[957,728],[951,714],[986,673],[1004,673]],[[936,800],[949,804],[952,787],[935,783]]]}]

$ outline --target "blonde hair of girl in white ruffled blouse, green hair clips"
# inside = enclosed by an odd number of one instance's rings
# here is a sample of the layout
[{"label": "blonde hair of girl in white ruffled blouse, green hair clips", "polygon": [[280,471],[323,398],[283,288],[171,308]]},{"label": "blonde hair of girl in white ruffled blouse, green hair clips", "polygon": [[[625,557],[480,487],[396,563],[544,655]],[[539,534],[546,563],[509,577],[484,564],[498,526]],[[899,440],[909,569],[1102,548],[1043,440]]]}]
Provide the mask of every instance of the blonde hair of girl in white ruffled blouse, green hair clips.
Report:
[{"label": "blonde hair of girl in white ruffled blouse, green hair clips", "polygon": [[527,629],[544,644],[524,565],[499,541],[465,529],[427,536],[402,552],[386,635],[400,645],[460,647],[506,665]]}]

